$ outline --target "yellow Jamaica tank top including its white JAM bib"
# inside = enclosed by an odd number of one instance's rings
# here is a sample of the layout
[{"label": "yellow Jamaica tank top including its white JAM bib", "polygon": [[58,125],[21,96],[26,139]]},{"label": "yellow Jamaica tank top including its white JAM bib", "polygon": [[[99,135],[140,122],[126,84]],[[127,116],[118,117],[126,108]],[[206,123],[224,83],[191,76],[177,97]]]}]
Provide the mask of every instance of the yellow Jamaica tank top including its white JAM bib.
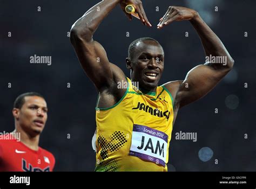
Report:
[{"label": "yellow Jamaica tank top including its white JAM bib", "polygon": [[96,106],[95,171],[167,171],[172,95],[164,86],[144,94],[126,80],[119,102],[110,108]]}]

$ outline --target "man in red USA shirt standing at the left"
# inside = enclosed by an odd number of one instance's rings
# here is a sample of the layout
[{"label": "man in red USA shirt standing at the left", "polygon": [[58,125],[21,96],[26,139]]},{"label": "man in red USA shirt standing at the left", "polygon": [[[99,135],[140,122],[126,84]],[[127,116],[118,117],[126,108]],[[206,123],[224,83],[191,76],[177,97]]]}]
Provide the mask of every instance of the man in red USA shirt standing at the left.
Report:
[{"label": "man in red USA shirt standing at the left", "polygon": [[0,135],[0,171],[52,171],[55,158],[39,147],[47,121],[47,104],[38,93],[24,93],[14,102],[15,130]]}]

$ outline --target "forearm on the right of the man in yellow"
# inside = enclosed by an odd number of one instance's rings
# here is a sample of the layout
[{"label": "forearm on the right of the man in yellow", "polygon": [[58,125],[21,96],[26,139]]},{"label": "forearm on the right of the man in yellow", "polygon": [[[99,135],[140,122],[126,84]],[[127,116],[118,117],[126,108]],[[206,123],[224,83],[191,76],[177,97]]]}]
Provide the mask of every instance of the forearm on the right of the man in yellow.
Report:
[{"label": "forearm on the right of the man in yellow", "polygon": [[[226,50],[225,46],[218,38],[218,36],[208,27],[208,25],[204,22],[203,19],[199,16],[198,13],[194,16],[193,19],[190,20],[194,29],[196,29],[201,42],[203,44],[205,54],[207,56],[221,56],[227,57],[227,64],[225,65],[227,68],[232,68],[234,64],[234,60],[232,59],[230,53]],[[215,64],[215,68],[223,68],[221,64]]]}]

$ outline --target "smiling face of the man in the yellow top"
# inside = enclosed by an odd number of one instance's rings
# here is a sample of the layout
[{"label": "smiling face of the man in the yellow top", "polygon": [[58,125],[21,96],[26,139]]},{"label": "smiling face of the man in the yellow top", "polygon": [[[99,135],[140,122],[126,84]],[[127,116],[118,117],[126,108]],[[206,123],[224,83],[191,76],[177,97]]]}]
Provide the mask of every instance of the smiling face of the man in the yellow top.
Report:
[{"label": "smiling face of the man in the yellow top", "polygon": [[164,51],[158,43],[139,42],[131,62],[131,79],[138,81],[140,88],[152,90],[158,86],[164,71]]}]

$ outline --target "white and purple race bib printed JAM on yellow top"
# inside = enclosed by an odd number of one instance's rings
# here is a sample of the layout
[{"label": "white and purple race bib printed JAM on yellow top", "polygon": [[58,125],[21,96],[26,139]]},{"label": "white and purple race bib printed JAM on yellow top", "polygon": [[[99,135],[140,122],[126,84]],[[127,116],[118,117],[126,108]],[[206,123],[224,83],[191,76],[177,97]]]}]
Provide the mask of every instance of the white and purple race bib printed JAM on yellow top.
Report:
[{"label": "white and purple race bib printed JAM on yellow top", "polygon": [[168,135],[164,132],[146,127],[133,125],[132,144],[129,155],[136,156],[156,164],[166,164]]}]

